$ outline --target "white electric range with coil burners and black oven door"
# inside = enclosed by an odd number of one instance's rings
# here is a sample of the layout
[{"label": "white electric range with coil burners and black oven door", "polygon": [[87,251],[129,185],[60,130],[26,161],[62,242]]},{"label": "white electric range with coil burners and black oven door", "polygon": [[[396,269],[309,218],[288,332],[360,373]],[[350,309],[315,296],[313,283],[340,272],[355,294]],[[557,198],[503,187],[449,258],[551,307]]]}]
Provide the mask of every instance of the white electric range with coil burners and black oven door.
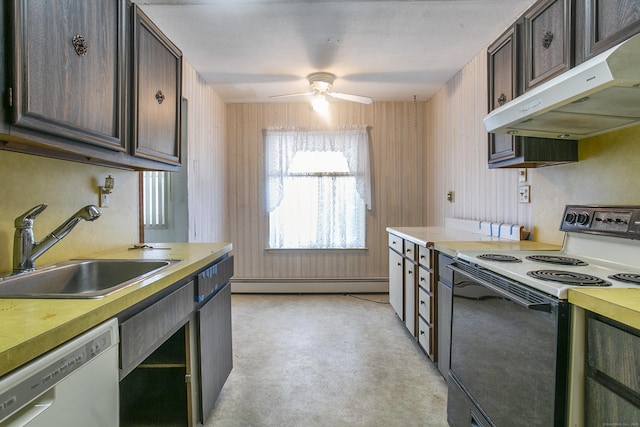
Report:
[{"label": "white electric range with coil burners and black oven door", "polygon": [[566,206],[560,230],[558,251],[460,251],[447,265],[451,425],[578,425],[568,422],[568,355],[579,351],[567,294],[640,288],[640,206]]}]

